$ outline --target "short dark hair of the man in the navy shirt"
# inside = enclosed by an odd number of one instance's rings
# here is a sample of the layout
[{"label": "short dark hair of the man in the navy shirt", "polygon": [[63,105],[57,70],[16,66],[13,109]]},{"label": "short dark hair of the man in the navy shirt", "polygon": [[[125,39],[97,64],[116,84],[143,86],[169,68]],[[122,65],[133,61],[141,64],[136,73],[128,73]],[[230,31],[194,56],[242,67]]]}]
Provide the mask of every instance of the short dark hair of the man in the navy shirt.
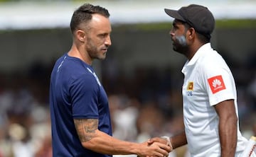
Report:
[{"label": "short dark hair of the man in the navy shirt", "polygon": [[110,17],[110,13],[106,8],[102,8],[101,6],[93,6],[92,4],[83,4],[73,13],[70,21],[71,33],[74,33],[74,31],[79,28],[81,23],[89,22],[92,19],[93,13],[98,13],[106,18]]}]

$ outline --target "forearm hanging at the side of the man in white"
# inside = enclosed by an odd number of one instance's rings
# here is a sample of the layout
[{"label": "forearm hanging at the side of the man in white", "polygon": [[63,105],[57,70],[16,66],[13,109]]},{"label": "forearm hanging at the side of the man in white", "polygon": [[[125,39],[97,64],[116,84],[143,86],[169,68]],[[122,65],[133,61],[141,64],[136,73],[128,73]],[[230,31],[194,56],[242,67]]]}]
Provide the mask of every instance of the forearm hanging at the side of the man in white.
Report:
[{"label": "forearm hanging at the side of the man in white", "polygon": [[238,141],[238,122],[237,117],[228,117],[220,120],[219,136],[221,146],[221,156],[235,156],[235,149]]}]

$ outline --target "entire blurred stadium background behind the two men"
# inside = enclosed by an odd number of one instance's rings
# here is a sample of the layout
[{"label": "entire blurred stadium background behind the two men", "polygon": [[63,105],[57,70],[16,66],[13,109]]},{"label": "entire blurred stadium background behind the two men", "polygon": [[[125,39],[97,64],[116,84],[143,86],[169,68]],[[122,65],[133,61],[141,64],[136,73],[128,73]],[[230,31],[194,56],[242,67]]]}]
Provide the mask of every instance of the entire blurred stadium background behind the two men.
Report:
[{"label": "entire blurred stadium background behind the two men", "polygon": [[[114,136],[142,142],[183,128],[181,69],[164,8],[207,6],[212,46],[233,71],[240,129],[256,135],[256,1],[0,0],[0,157],[50,157],[48,90],[55,60],[70,50],[70,18],[91,3],[110,11],[112,46],[93,66],[109,96]],[[169,156],[188,156],[186,146]]]}]

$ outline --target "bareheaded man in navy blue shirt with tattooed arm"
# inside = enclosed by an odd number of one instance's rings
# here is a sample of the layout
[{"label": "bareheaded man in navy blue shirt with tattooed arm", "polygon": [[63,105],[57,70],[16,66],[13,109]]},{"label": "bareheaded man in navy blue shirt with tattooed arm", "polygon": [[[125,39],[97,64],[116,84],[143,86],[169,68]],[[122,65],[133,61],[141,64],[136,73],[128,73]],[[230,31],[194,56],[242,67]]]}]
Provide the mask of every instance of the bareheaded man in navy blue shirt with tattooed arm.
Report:
[{"label": "bareheaded man in navy blue shirt with tattooed arm", "polygon": [[53,156],[168,156],[166,144],[112,137],[107,94],[92,69],[93,59],[105,59],[111,45],[109,16],[107,9],[91,4],[73,13],[73,45],[57,60],[50,78]]}]

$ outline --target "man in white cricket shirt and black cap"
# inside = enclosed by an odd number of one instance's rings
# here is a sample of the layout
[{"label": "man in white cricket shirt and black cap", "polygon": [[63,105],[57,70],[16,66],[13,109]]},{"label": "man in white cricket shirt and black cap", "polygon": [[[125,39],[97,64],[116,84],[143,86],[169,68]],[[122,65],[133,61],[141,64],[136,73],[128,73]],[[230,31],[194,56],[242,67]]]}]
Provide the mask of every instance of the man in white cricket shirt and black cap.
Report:
[{"label": "man in white cricket shirt and black cap", "polygon": [[175,136],[149,139],[149,144],[167,140],[173,149],[188,144],[193,157],[240,156],[247,139],[239,129],[233,74],[210,45],[213,14],[196,4],[164,11],[174,18],[173,49],[188,59],[182,69],[185,129]]}]

